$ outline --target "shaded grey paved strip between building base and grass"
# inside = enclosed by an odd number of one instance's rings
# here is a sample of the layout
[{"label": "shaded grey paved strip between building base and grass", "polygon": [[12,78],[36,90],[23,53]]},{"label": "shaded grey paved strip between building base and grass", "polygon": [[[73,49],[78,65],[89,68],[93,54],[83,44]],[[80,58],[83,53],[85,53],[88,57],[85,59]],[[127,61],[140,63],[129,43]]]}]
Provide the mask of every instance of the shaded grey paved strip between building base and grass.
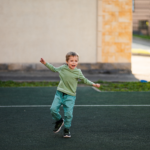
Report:
[{"label": "shaded grey paved strip between building base and grass", "polygon": [[[84,73],[85,77],[87,77],[91,81],[139,81],[132,74],[87,74]],[[8,81],[59,81],[58,74],[55,75],[51,71],[44,72],[1,72],[0,80]]]}]

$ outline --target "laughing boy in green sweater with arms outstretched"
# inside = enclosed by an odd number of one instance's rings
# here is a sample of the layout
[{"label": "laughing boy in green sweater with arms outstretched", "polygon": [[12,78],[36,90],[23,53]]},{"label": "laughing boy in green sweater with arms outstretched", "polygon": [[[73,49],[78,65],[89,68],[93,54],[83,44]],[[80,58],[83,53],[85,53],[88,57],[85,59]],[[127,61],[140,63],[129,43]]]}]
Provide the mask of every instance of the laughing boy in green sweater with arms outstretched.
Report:
[{"label": "laughing boy in green sweater with arms outstretched", "polygon": [[[84,77],[80,69],[77,69],[79,61],[79,55],[75,52],[69,52],[66,55],[66,63],[58,68],[53,65],[46,63],[43,58],[40,62],[44,64],[53,72],[58,72],[60,82],[57,87],[55,98],[50,108],[53,119],[56,120],[54,132],[60,131],[64,125],[64,137],[71,137],[69,128],[71,127],[71,121],[73,118],[73,107],[76,99],[76,88],[78,79],[81,79],[85,84],[100,87],[100,84],[95,84]],[[64,120],[59,114],[60,106],[63,105],[64,109]]]}]

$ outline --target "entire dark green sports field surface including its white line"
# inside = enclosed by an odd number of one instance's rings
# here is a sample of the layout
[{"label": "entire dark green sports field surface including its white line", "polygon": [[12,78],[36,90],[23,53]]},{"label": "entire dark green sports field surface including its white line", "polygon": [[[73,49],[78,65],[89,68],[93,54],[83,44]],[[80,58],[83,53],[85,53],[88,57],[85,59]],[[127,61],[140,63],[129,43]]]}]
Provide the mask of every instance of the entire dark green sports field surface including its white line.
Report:
[{"label": "entire dark green sports field surface including its white line", "polygon": [[150,149],[150,92],[78,87],[71,138],[63,138],[63,129],[52,131],[55,92],[56,87],[0,88],[0,150]]}]

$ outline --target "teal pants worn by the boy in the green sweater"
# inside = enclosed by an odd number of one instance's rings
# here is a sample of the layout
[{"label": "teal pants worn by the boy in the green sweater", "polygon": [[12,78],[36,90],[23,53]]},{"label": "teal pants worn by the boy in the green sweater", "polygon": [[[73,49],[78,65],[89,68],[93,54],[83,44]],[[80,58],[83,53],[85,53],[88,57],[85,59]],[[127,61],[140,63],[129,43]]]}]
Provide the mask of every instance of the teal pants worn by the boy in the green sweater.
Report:
[{"label": "teal pants worn by the boy in the green sweater", "polygon": [[73,107],[75,104],[75,100],[76,100],[76,96],[71,96],[68,94],[64,94],[60,91],[56,91],[50,111],[53,119],[58,121],[62,118],[61,115],[59,114],[59,111],[60,111],[60,106],[63,105],[65,128],[71,127],[71,121],[73,118]]}]

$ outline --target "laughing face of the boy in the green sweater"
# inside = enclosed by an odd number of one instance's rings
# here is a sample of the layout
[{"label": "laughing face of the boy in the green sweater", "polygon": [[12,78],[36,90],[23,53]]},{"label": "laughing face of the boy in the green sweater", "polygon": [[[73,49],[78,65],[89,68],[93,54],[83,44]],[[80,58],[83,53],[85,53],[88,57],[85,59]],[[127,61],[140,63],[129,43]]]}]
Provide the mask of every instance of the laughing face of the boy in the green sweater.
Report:
[{"label": "laughing face of the boy in the green sweater", "polygon": [[68,67],[70,69],[75,69],[78,65],[78,57],[77,56],[70,56],[69,60],[66,61],[66,63],[68,64]]}]

